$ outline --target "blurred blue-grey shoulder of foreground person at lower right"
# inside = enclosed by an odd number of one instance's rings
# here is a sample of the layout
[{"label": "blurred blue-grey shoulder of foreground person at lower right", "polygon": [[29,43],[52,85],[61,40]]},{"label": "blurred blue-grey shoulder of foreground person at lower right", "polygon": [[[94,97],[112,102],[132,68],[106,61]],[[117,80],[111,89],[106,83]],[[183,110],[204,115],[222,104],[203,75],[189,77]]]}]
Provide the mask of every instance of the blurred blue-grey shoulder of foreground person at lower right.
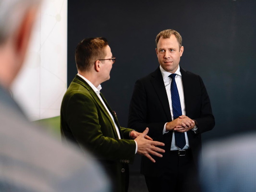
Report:
[{"label": "blurred blue-grey shoulder of foreground person at lower right", "polygon": [[237,134],[203,147],[200,183],[203,192],[255,192],[256,132]]}]

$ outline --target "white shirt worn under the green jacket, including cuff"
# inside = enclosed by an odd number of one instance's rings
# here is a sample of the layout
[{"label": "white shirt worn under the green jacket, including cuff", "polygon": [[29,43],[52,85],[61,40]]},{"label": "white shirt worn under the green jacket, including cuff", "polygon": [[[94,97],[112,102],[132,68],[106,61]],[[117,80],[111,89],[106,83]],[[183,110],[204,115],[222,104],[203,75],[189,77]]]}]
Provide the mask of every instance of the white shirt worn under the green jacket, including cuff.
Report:
[{"label": "white shirt worn under the green jacket, including cuff", "polygon": [[[86,82],[87,84],[89,84],[90,87],[92,87],[92,89],[95,91],[95,93],[97,94],[99,100],[101,101],[101,103],[104,105],[104,107],[105,107],[106,110],[108,111],[108,113],[109,113],[109,115],[110,115],[110,118],[112,119],[112,121],[113,121],[113,123],[114,123],[114,125],[115,125],[115,129],[116,129],[116,132],[117,132],[117,134],[118,134],[118,138],[121,139],[120,132],[119,132],[119,129],[118,129],[116,123],[115,123],[115,120],[114,120],[112,114],[110,113],[110,110],[107,108],[105,102],[103,101],[102,97],[100,96],[100,90],[102,89],[101,85],[99,84],[98,87],[96,88],[96,87],[94,86],[94,84],[92,84],[92,83],[91,83],[88,79],[86,79],[84,76],[80,75],[79,73],[77,73],[77,75],[78,75],[79,77],[81,77],[82,79],[84,79],[85,82]],[[138,146],[137,146],[137,142],[136,142],[135,140],[134,140],[134,142],[135,142],[135,144],[136,144],[136,149],[135,149],[135,154],[136,154],[136,153],[137,153]]]}]

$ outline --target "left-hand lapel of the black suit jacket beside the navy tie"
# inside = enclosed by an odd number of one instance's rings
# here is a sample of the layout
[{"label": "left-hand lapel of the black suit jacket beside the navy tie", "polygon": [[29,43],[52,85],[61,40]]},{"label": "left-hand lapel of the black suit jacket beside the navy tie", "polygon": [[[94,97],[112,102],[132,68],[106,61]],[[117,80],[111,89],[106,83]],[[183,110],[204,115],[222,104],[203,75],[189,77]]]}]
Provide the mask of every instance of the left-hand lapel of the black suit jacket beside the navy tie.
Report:
[{"label": "left-hand lapel of the black suit jacket beside the navy tie", "polygon": [[163,81],[163,76],[160,71],[160,68],[155,72],[151,73],[151,83],[155,89],[156,94],[158,95],[158,98],[162,104],[162,108],[166,114],[167,120],[171,121],[171,110],[169,106],[168,96],[166,94],[166,89]]}]

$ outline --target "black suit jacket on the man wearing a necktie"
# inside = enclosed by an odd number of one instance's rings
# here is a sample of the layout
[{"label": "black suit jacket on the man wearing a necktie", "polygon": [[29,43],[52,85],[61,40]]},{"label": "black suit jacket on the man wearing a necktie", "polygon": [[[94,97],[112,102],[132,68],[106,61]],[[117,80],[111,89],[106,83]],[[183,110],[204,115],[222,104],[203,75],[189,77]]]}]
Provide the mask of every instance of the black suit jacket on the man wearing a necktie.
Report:
[{"label": "black suit jacket on the man wearing a necktie", "polygon": [[[201,133],[211,130],[215,125],[210,99],[199,75],[180,68],[182,74],[186,116],[196,120],[198,133],[188,131],[187,136],[193,158],[197,162],[201,151]],[[128,127],[143,132],[149,128],[148,135],[156,141],[165,143],[163,149],[170,151],[172,132],[163,134],[164,124],[171,121],[171,111],[163,77],[159,67],[155,72],[136,81],[130,103]],[[147,176],[160,176],[167,163],[163,157],[155,157],[156,163],[142,157],[141,173]]]}]

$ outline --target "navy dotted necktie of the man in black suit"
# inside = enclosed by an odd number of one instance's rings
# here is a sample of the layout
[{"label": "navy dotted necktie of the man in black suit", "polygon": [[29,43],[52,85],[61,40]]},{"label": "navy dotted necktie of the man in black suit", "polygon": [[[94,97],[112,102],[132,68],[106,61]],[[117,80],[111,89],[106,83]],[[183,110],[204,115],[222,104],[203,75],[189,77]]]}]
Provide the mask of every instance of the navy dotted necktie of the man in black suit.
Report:
[{"label": "navy dotted necktie of the man in black suit", "polygon": [[[175,73],[169,75],[169,77],[171,77],[171,104],[172,104],[173,120],[179,118],[179,116],[182,115],[181,101],[180,101],[177,84],[175,82],[175,76],[176,76]],[[175,135],[176,146],[183,149],[183,147],[186,145],[185,133],[174,132],[174,135]]]}]

